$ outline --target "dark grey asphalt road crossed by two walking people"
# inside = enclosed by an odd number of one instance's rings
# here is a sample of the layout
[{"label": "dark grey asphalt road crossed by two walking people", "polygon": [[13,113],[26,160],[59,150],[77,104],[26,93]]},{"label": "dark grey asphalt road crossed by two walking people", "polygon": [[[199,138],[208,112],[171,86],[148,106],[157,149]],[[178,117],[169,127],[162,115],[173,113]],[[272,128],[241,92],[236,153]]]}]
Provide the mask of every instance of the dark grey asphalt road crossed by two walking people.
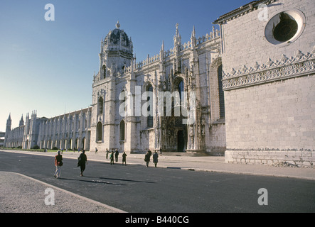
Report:
[{"label": "dark grey asphalt road crossed by two walking people", "polygon": [[[65,159],[60,179],[53,157],[0,153],[0,171],[19,172],[55,187],[132,213],[315,212],[315,181],[143,165],[88,162],[80,177]],[[258,194],[261,189],[267,189]],[[262,197],[267,205],[260,205]]]}]

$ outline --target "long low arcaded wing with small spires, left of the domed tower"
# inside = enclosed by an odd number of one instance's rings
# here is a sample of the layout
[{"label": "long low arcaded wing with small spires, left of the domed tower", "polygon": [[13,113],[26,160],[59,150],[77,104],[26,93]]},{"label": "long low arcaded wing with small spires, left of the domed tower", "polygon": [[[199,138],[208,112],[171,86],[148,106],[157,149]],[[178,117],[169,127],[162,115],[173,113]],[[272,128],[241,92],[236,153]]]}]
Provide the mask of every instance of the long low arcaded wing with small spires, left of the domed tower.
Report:
[{"label": "long low arcaded wing with small spires, left of the domed tower", "polygon": [[38,118],[36,111],[23,116],[18,128],[11,130],[11,116],[6,121],[4,147],[31,149],[90,149],[90,109],[82,109],[54,118]]}]

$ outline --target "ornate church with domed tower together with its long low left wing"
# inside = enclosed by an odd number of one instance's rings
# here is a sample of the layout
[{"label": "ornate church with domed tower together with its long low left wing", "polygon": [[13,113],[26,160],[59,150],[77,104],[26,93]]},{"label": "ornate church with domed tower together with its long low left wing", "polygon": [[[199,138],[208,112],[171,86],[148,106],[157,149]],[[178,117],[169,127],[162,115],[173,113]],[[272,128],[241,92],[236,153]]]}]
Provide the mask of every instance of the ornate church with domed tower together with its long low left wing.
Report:
[{"label": "ornate church with domed tower together with its long low left wing", "polygon": [[137,63],[132,40],[117,23],[101,40],[91,107],[50,119],[33,113],[25,125],[13,130],[9,117],[5,146],[222,155],[220,31],[213,27],[197,38],[193,28],[191,40],[181,43],[177,24],[173,42],[171,50],[164,50],[162,43],[159,54]]}]

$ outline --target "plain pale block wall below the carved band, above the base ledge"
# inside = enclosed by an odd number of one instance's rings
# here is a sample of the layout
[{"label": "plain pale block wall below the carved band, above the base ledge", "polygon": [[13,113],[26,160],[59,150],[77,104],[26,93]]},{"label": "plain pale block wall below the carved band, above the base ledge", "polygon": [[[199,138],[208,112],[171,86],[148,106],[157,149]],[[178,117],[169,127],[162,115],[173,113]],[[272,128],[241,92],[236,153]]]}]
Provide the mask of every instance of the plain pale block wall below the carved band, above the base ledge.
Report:
[{"label": "plain pale block wall below the carved band, above the base ledge", "polygon": [[229,149],[315,150],[315,77],[225,92]]}]

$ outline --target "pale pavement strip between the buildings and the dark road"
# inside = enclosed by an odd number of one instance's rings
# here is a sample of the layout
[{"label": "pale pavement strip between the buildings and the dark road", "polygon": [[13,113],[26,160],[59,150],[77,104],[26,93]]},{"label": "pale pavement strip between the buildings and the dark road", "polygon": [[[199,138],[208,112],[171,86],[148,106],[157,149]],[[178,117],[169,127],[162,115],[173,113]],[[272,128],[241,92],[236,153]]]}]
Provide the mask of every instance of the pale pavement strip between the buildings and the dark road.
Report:
[{"label": "pale pavement strip between the buildings and the dark road", "polygon": [[[5,150],[4,150],[5,151]],[[32,155],[47,155],[55,156],[56,153],[42,153],[42,152],[29,152],[29,151],[8,151],[14,153],[28,153]],[[63,152],[63,158],[78,159],[80,153],[76,152]],[[109,162],[106,159],[104,152],[86,152],[87,160],[95,160],[100,162]],[[115,162],[116,163],[116,162]],[[122,165],[122,153],[119,153],[118,165]],[[127,165],[143,165],[144,154],[127,154]],[[149,167],[154,167],[151,157]],[[185,153],[162,153],[159,154],[159,163],[157,167],[173,168],[178,170],[194,170],[194,171],[208,171],[208,172],[225,172],[245,175],[262,175],[274,177],[295,177],[300,179],[315,180],[314,167],[274,167],[269,165],[256,165],[256,164],[233,164],[225,163],[225,158],[220,156],[189,156]]]}]

